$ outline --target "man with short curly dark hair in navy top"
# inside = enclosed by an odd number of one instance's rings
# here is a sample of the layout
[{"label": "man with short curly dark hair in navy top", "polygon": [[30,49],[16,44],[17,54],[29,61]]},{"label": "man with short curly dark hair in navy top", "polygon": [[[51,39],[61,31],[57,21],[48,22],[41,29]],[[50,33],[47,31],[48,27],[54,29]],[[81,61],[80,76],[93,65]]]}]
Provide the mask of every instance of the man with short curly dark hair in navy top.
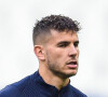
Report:
[{"label": "man with short curly dark hair in navy top", "polygon": [[39,20],[32,33],[39,70],[3,88],[0,97],[86,97],[69,80],[78,71],[79,30],[79,23],[62,15]]}]

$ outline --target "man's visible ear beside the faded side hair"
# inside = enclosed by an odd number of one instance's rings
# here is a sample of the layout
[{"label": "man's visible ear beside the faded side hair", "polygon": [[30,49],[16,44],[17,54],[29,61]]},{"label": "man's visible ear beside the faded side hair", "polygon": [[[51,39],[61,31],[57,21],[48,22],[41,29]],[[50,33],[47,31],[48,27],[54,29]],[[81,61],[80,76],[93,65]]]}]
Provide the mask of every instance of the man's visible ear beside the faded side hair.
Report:
[{"label": "man's visible ear beside the faded side hair", "polygon": [[35,54],[36,56],[40,59],[40,60],[44,60],[45,59],[45,55],[44,55],[44,50],[42,45],[35,45]]}]

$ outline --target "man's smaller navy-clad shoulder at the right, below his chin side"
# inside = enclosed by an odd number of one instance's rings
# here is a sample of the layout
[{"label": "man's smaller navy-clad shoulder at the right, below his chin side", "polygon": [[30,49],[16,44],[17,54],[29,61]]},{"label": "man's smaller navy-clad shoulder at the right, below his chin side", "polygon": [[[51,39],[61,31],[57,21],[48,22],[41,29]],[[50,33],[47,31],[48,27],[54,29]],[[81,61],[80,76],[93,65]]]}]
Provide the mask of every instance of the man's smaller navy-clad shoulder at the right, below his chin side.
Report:
[{"label": "man's smaller navy-clad shoulder at the right, below his chin side", "polygon": [[79,91],[78,88],[73,87],[72,85],[69,86],[70,91],[73,94],[73,97],[87,97],[85,94],[83,94],[81,91]]}]

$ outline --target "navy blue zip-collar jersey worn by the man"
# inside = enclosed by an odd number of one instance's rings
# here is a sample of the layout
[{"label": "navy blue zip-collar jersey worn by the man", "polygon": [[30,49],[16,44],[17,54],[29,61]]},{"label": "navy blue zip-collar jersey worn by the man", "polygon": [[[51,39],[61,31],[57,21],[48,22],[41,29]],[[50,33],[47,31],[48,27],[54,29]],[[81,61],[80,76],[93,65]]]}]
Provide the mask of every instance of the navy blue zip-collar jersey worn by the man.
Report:
[{"label": "navy blue zip-collar jersey worn by the man", "polygon": [[58,91],[55,86],[46,84],[39,71],[36,71],[1,89],[0,97],[86,97],[86,95],[71,86],[70,83]]}]

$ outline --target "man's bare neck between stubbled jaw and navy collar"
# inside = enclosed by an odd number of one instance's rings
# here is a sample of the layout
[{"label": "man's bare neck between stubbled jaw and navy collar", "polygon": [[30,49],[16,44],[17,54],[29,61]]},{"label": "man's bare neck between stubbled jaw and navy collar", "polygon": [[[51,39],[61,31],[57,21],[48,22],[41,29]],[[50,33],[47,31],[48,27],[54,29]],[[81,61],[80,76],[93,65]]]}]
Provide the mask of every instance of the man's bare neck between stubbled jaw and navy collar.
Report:
[{"label": "man's bare neck between stubbled jaw and navy collar", "polygon": [[45,83],[55,86],[58,91],[69,83],[69,78],[62,79],[41,66],[39,68],[39,73]]}]

